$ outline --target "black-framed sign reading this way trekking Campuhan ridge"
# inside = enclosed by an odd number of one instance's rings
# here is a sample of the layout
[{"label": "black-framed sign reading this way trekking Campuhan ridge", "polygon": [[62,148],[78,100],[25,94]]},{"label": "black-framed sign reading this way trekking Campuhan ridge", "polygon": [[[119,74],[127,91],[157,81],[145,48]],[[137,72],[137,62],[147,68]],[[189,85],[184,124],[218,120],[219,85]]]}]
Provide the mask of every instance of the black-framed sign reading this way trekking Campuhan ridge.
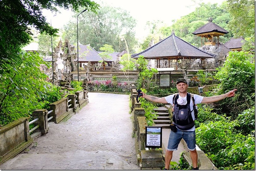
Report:
[{"label": "black-framed sign reading this way trekking Campuhan ridge", "polygon": [[146,148],[162,148],[162,127],[146,126]]}]

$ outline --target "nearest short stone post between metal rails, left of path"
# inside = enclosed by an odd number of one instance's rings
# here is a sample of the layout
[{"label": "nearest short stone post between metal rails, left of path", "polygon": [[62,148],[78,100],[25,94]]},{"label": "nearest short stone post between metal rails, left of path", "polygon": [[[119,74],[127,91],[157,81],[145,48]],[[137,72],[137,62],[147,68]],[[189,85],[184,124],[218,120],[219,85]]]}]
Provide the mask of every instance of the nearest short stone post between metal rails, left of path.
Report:
[{"label": "nearest short stone post between metal rails, left of path", "polygon": [[48,118],[47,118],[48,111],[46,109],[36,109],[32,116],[34,119],[38,118],[39,120],[35,123],[39,125],[39,131],[42,132],[42,134],[46,134],[48,132]]}]

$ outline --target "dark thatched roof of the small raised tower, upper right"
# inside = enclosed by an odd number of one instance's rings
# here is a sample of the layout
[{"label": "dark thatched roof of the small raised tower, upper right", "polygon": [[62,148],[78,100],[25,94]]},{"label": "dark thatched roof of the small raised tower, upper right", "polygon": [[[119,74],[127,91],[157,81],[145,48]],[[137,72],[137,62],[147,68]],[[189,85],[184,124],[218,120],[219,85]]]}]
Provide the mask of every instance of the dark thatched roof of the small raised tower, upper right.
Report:
[{"label": "dark thatched roof of the small raised tower, upper right", "polygon": [[213,22],[209,22],[202,27],[198,28],[194,31],[193,35],[203,34],[203,33],[210,33],[210,32],[217,32],[222,34],[227,34],[228,31],[220,27],[219,25],[214,24]]}]

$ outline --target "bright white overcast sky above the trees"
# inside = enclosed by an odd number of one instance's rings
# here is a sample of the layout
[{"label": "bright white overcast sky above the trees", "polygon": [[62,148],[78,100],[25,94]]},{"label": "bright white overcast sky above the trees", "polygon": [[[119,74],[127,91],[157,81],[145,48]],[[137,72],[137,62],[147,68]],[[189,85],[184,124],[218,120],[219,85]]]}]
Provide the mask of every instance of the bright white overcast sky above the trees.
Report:
[{"label": "bright white overcast sky above the trees", "polygon": [[[143,39],[148,35],[146,30],[146,22],[153,22],[154,20],[163,21],[167,26],[172,24],[172,20],[180,19],[182,16],[187,15],[195,10],[196,3],[191,0],[94,0],[100,5],[102,2],[115,8],[122,8],[130,12],[130,15],[136,19],[136,37]],[[203,0],[204,3],[218,3],[219,5],[224,0]],[[202,0],[196,0],[202,2]],[[54,28],[61,28],[70,19],[72,19],[70,11],[60,10],[61,14],[53,17],[49,11],[43,10],[43,15],[47,17],[50,23],[52,19],[52,26]],[[76,20],[76,18],[75,18]]]}]

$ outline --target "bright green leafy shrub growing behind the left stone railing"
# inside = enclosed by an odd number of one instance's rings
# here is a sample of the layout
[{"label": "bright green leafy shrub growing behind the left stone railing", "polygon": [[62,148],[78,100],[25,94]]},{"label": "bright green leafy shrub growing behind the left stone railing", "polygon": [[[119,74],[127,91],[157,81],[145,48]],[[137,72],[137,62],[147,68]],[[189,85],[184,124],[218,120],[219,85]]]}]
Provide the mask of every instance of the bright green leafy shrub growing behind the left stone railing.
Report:
[{"label": "bright green leafy shrub growing behind the left stone railing", "polygon": [[19,54],[22,63],[12,63],[11,69],[0,74],[0,125],[29,116],[45,98],[49,83],[40,71],[46,64],[38,53]]}]

